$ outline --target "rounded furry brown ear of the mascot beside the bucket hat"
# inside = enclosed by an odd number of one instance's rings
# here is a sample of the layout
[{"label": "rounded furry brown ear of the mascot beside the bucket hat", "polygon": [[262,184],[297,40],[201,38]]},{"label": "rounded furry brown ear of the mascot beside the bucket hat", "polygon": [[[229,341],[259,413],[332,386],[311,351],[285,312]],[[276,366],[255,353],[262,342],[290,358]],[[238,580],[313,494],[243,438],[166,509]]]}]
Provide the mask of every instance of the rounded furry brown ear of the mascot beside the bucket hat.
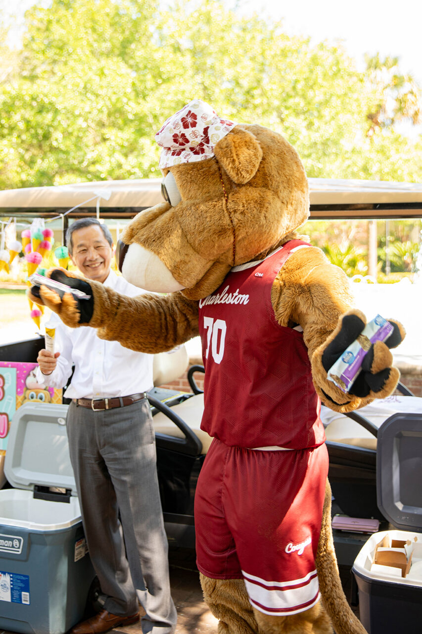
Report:
[{"label": "rounded furry brown ear of the mascot beside the bucket hat", "polygon": [[262,150],[253,134],[236,126],[214,146],[215,157],[229,177],[240,185],[255,176],[262,159]]}]

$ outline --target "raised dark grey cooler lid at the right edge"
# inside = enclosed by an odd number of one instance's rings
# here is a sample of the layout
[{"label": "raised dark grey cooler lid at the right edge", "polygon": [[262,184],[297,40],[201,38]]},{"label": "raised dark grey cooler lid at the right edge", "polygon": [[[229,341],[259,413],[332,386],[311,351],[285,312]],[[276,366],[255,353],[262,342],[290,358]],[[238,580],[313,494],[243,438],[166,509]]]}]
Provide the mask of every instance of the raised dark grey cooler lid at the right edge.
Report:
[{"label": "raised dark grey cooler lid at the right edge", "polygon": [[378,429],[378,508],[396,528],[422,531],[422,413],[397,413]]}]

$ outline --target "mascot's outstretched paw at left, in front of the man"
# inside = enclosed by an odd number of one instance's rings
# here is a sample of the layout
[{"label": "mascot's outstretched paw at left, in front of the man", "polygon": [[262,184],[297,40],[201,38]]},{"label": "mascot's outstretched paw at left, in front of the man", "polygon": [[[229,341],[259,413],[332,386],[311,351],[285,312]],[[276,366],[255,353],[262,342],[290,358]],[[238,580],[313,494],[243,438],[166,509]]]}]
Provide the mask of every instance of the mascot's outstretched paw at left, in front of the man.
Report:
[{"label": "mascot's outstretched paw at left, in front of the man", "polygon": [[[50,269],[46,275],[49,280],[65,284],[70,287],[68,291],[60,287],[49,287],[48,281],[40,286],[32,286],[27,291],[29,299],[35,304],[47,306],[53,313],[57,313],[63,323],[75,328],[81,324],[89,323],[94,311],[94,299],[92,288],[85,280],[68,273],[65,269]],[[89,295],[89,299],[80,299],[81,291]]]}]

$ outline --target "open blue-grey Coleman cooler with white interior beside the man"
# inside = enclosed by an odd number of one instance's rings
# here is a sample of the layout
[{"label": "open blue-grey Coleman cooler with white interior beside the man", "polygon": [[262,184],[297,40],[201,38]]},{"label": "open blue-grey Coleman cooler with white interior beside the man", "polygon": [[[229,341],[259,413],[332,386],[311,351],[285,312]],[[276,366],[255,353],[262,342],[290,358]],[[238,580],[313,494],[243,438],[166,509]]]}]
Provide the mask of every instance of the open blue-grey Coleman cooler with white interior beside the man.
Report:
[{"label": "open blue-grey Coleman cooler with white interior beside the man", "polygon": [[11,421],[0,490],[0,628],[63,634],[84,616],[87,553],[65,427],[67,405],[25,403]]}]

